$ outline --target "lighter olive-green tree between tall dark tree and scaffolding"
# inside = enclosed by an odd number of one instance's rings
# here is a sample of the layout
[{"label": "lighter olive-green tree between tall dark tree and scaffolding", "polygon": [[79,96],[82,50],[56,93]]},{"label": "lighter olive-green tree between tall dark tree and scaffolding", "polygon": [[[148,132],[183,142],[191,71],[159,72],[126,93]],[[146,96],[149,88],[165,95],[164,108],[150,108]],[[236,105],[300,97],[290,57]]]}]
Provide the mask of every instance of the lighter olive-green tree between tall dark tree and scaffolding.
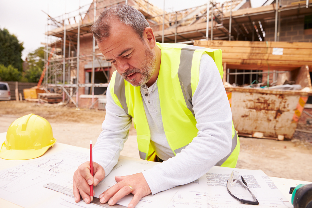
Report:
[{"label": "lighter olive-green tree between tall dark tree and scaffolding", "polygon": [[25,78],[28,82],[38,82],[44,68],[44,47],[39,47],[35,51],[28,53],[28,70],[25,72]]}]

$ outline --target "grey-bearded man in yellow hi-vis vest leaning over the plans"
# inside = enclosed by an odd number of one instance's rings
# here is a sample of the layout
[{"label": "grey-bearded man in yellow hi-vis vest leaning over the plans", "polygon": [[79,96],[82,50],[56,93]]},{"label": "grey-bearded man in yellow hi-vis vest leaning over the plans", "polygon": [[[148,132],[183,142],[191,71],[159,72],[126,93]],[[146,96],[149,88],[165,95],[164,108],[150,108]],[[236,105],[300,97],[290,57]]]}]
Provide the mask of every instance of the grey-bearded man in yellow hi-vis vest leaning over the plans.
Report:
[{"label": "grey-bearded man in yellow hi-vis vest leaning over the plans", "polygon": [[133,193],[133,208],[143,196],[194,181],[214,165],[235,167],[239,141],[220,78],[220,50],[156,43],[144,16],[126,5],[106,9],[91,31],[118,73],[110,81],[103,131],[93,148],[94,176],[89,162],[74,174],[76,202],[80,194],[90,203],[90,185],[117,163],[132,117],[140,157],[163,162],[116,176],[118,183],[100,194],[101,203],[114,205]]}]

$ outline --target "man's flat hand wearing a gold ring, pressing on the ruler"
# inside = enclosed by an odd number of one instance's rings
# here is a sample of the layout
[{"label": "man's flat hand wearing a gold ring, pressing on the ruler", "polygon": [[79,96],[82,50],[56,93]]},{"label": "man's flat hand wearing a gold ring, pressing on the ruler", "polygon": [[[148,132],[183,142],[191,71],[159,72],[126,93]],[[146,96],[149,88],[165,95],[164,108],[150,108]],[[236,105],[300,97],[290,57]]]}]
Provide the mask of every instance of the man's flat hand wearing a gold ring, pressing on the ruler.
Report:
[{"label": "man's flat hand wearing a gold ring, pressing on the ruler", "polygon": [[[152,193],[142,173],[130,176],[115,176],[115,180],[117,181],[117,184],[110,187],[100,195],[99,198],[101,203],[104,204],[111,198],[110,201],[108,201],[108,204],[112,206],[122,197],[132,193],[134,196],[130,201],[128,208],[133,208],[139,203],[143,196],[147,196]],[[133,190],[131,190],[130,186]]]}]

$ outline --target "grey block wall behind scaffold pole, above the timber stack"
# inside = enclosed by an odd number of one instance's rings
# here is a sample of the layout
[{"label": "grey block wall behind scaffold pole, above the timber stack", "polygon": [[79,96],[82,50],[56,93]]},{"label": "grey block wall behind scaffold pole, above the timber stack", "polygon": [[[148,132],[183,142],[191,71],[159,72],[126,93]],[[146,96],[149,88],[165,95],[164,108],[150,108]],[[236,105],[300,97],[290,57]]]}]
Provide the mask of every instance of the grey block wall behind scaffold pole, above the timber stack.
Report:
[{"label": "grey block wall behind scaffold pole, above the timber stack", "polygon": [[[304,15],[282,18],[279,41],[312,42],[312,35],[305,35]],[[275,20],[265,21],[265,41],[274,41]]]}]

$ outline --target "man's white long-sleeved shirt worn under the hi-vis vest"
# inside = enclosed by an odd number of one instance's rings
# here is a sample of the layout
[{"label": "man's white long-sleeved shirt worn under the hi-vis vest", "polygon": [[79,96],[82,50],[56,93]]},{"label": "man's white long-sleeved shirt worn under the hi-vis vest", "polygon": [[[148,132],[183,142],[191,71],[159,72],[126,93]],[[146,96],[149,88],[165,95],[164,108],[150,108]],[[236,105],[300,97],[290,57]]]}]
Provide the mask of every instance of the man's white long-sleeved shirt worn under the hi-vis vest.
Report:
[{"label": "man's white long-sleeved shirt worn under the hi-vis vest", "polygon": [[[232,112],[217,66],[209,55],[201,57],[199,81],[192,98],[197,137],[175,157],[163,129],[157,81],[140,89],[151,143],[157,156],[164,160],[143,172],[152,194],[196,180],[231,152]],[[108,175],[118,162],[132,120],[115,104],[109,90],[106,94],[106,116],[93,148],[93,161]]]}]

